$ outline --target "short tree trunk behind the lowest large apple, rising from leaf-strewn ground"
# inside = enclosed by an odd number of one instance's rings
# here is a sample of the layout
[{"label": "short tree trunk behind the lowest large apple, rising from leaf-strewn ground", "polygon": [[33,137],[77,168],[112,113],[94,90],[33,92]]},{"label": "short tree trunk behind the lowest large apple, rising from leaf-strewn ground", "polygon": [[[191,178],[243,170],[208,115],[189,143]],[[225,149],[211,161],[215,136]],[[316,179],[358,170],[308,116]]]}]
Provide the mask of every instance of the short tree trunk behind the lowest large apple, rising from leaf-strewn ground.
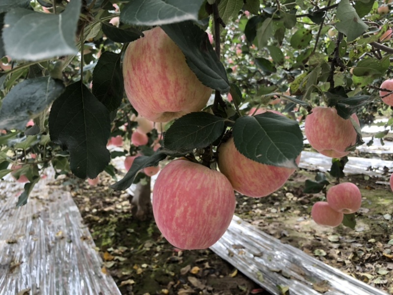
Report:
[{"label": "short tree trunk behind the lowest large apple, rising from leaf-strewn ground", "polygon": [[150,200],[150,177],[146,177],[147,183],[137,183],[134,196],[130,195],[129,201],[132,205],[131,213],[140,220],[150,219],[153,216],[153,209]]}]

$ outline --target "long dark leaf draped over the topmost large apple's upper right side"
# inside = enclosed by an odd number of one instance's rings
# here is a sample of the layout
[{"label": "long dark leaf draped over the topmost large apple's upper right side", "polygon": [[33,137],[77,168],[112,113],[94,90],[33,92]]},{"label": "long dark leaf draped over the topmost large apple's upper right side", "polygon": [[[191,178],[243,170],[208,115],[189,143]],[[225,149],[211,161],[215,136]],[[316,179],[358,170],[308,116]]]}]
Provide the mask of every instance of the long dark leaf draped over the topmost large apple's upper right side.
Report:
[{"label": "long dark leaf draped over the topmost large apple's upper right side", "polygon": [[207,33],[192,22],[162,26],[186,57],[188,66],[207,87],[229,91],[224,65],[209,42]]}]

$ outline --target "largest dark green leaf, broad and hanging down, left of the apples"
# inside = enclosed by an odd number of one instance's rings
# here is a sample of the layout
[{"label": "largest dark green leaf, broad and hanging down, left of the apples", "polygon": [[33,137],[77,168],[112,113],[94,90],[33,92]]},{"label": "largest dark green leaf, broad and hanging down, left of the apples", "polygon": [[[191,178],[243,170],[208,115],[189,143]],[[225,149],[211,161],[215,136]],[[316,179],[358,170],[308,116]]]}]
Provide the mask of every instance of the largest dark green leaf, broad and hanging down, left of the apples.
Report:
[{"label": "largest dark green leaf, broad and hanging down, left of the apples", "polygon": [[110,161],[108,109],[81,81],[66,87],[49,115],[51,140],[70,153],[70,167],[80,178],[95,178]]}]

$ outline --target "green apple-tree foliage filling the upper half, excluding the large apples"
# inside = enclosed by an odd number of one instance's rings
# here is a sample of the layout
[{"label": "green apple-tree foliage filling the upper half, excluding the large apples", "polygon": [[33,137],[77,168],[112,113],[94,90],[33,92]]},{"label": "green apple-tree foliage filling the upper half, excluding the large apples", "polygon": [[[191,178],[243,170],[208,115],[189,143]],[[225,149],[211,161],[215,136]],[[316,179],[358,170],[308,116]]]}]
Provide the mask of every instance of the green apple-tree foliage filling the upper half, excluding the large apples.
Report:
[{"label": "green apple-tree foliage filling the upper half, excluding the large apples", "polygon": [[[142,154],[112,185],[125,189],[140,180],[140,169],[167,156],[214,167],[217,147],[233,134],[246,157],[296,167],[303,149],[299,122],[313,106],[335,107],[342,118],[356,112],[361,124],[391,116],[378,97],[378,86],[391,75],[393,53],[391,39],[381,40],[393,20],[390,13],[377,13],[382,1],[215,2],[0,4],[0,176],[12,164],[26,167],[30,185],[18,204],[50,165],[57,174],[95,178],[105,170],[115,179],[111,158]],[[112,25],[117,17],[119,25]],[[122,57],[128,42],[143,38],[151,26],[161,26],[179,46],[198,79],[215,90],[214,101],[169,123],[164,136],[156,124],[148,143],[135,147],[129,139],[138,113],[124,96]],[[249,117],[252,107],[287,118]],[[107,148],[114,136],[124,138],[123,151]],[[157,144],[163,148],[154,152]],[[332,176],[342,177],[345,161],[333,163]],[[326,182],[317,178],[306,187],[316,192]]]}]

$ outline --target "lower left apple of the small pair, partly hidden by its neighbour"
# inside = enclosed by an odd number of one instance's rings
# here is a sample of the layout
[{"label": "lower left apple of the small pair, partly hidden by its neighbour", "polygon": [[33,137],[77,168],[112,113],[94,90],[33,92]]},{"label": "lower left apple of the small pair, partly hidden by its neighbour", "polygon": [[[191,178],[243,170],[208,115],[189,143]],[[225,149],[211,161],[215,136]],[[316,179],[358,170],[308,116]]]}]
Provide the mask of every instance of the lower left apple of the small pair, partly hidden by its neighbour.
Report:
[{"label": "lower left apple of the small pair, partly hidden by its neighbour", "polygon": [[316,202],[311,208],[311,217],[319,225],[336,227],[344,219],[344,213],[333,210],[328,202]]}]

